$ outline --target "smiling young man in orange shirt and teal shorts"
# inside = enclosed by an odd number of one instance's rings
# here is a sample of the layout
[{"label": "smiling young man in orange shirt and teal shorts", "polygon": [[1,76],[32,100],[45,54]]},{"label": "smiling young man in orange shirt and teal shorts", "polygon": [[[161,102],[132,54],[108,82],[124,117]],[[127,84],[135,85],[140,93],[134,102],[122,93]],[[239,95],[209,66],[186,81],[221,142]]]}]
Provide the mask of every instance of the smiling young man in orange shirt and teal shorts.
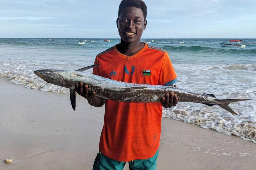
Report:
[{"label": "smiling young man in orange shirt and teal shorts", "polygon": [[[171,85],[177,76],[167,52],[141,42],[146,29],[147,7],[142,0],[123,0],[116,21],[120,44],[97,55],[93,74],[113,80],[154,85]],[[77,84],[76,91],[95,107],[105,104],[99,153],[93,169],[119,170],[129,162],[130,169],[156,169],[161,134],[162,106],[178,103],[173,92],[161,103],[125,103],[96,97],[88,85]]]}]

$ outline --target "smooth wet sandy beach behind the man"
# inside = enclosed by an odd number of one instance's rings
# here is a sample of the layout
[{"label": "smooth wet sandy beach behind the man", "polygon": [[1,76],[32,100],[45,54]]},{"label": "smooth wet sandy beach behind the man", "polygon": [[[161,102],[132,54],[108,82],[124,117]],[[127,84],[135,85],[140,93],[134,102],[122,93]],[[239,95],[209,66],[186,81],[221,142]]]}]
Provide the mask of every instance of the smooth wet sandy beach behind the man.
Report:
[{"label": "smooth wet sandy beach behind the man", "polygon": [[[90,170],[98,151],[104,107],[77,95],[43,92],[0,77],[0,169]],[[12,159],[12,164],[5,164]],[[236,136],[162,119],[159,170],[251,170],[256,144]],[[128,165],[125,167],[128,170]]]}]

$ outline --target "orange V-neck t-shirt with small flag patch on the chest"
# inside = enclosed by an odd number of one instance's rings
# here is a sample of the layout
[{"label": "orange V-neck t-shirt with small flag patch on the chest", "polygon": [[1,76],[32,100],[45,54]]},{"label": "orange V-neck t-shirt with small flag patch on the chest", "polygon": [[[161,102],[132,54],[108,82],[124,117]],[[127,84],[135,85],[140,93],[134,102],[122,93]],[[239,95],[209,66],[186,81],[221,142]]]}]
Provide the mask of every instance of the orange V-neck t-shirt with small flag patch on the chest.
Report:
[{"label": "orange V-neck t-shirt with small flag patch on the chest", "polygon": [[[116,46],[97,55],[93,74],[113,80],[171,85],[177,76],[167,52],[147,43],[126,56]],[[109,158],[128,162],[155,155],[161,134],[161,103],[125,103],[106,100],[99,149]]]}]

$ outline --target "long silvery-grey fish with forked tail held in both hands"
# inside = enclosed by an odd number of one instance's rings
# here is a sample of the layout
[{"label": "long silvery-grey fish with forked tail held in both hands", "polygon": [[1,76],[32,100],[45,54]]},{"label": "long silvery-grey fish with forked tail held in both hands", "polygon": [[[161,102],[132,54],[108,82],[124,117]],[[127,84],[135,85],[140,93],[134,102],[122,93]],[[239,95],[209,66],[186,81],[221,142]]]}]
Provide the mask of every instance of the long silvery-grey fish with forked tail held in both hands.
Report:
[{"label": "long silvery-grey fish with forked tail held in both hands", "polygon": [[45,80],[57,86],[70,89],[70,100],[72,108],[76,108],[76,83],[83,82],[89,86],[90,91],[95,91],[96,96],[119,102],[139,102],[150,103],[160,102],[161,98],[167,93],[174,92],[178,95],[179,102],[202,103],[208,106],[219,105],[232,114],[235,113],[228,105],[232,102],[239,102],[251,99],[217,99],[213,94],[197,93],[190,90],[175,88],[170,86],[146,85],[136,83],[125,83],[104,78],[101,76],[84,73],[83,71],[96,67],[91,65],[76,71],[67,70],[37,70],[34,73]]}]

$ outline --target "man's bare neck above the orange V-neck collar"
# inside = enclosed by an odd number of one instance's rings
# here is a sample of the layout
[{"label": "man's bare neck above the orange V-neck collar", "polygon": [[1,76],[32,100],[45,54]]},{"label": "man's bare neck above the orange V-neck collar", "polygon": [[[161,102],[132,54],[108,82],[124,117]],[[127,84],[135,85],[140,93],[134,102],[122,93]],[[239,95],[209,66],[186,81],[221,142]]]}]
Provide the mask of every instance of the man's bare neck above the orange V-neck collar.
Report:
[{"label": "man's bare neck above the orange V-neck collar", "polygon": [[126,43],[121,39],[121,43],[117,45],[117,50],[124,55],[131,56],[139,52],[143,47],[144,42],[133,42],[133,43]]}]

